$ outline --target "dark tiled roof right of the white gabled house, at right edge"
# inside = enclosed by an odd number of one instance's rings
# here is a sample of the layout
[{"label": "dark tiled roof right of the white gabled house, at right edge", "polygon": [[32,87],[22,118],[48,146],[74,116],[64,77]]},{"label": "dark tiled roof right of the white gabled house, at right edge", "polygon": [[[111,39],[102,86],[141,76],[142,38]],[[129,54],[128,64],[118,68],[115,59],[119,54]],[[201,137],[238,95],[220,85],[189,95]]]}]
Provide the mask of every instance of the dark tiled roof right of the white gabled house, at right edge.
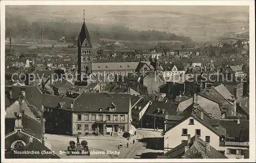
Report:
[{"label": "dark tiled roof right of the white gabled house, at right edge", "polygon": [[240,130],[243,128],[244,138],[239,142],[249,142],[249,120],[240,120],[240,124],[237,123],[237,120],[220,120],[220,124],[226,129],[227,137],[234,137],[238,141]]}]

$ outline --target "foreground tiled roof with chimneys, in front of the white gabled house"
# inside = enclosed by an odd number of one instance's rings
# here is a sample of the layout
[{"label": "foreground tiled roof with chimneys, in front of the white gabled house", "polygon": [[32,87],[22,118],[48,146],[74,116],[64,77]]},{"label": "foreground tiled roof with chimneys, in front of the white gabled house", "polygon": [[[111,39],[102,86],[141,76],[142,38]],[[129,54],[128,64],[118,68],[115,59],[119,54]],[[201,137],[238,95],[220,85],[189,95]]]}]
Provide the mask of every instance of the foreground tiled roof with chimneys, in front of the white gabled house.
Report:
[{"label": "foreground tiled roof with chimneys, in front of the white gabled house", "polygon": [[203,141],[198,135],[190,138],[187,135],[187,140],[183,140],[180,145],[167,153],[158,156],[158,158],[185,158],[185,159],[201,159],[201,158],[227,158],[220,153],[217,149],[210,146],[210,137],[208,136]]}]

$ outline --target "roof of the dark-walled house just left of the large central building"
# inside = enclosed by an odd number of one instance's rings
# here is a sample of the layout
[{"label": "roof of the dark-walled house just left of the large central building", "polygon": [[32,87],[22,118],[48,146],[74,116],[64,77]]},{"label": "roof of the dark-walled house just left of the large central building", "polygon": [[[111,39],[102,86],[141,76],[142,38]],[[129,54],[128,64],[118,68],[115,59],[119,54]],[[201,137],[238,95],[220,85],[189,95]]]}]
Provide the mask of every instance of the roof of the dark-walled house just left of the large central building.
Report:
[{"label": "roof of the dark-walled house just left of the large central building", "polygon": [[[71,110],[71,103],[74,101],[74,99],[71,98],[61,98],[59,96],[54,96],[54,95],[46,95],[44,94],[42,96],[42,105],[44,107],[51,107],[51,108],[56,108],[58,107],[59,109],[67,109]],[[65,103],[62,107],[59,106],[59,103]]]}]

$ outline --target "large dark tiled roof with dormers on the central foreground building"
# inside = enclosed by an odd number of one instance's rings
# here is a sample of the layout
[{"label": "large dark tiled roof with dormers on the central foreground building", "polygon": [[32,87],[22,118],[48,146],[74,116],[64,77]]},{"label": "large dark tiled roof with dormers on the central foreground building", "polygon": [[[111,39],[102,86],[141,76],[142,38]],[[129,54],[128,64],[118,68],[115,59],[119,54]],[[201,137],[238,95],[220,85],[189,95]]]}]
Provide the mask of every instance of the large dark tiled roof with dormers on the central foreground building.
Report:
[{"label": "large dark tiled roof with dormers on the central foreground building", "polygon": [[74,100],[72,111],[78,112],[98,112],[99,108],[108,111],[111,104],[116,105],[115,112],[129,112],[129,94],[111,93],[83,93]]}]

